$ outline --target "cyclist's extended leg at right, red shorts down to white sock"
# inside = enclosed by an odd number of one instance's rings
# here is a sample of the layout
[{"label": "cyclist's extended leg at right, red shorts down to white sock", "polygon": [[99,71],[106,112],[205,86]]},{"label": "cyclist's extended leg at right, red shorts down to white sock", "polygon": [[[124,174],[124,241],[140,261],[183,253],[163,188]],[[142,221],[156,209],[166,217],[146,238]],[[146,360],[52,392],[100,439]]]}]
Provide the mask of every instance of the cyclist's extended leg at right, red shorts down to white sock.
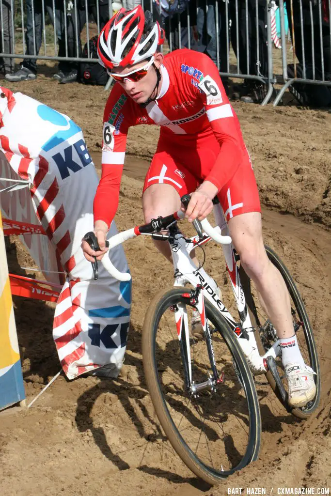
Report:
[{"label": "cyclist's extended leg at right, red shorts down to white sock", "polygon": [[219,199],[241,264],[253,279],[279,338],[293,335],[288,292],[279,271],[270,263],[262,236],[259,192],[248,154]]}]

